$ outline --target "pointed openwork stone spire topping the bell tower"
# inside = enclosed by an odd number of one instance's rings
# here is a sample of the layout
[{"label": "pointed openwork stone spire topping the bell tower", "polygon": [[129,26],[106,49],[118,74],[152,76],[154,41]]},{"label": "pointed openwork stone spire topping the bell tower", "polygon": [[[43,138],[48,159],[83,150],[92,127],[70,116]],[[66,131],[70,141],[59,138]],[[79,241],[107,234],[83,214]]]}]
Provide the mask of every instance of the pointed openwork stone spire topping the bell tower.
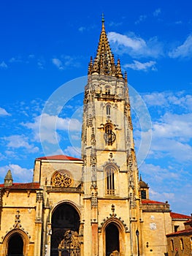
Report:
[{"label": "pointed openwork stone spire topping the bell tower", "polygon": [[99,75],[111,75],[117,78],[123,78],[120,60],[118,59],[115,65],[114,55],[110,49],[110,43],[107,39],[107,34],[104,27],[104,16],[102,16],[102,29],[99,38],[99,45],[96,52],[96,57],[88,65],[88,75],[97,73]]}]

